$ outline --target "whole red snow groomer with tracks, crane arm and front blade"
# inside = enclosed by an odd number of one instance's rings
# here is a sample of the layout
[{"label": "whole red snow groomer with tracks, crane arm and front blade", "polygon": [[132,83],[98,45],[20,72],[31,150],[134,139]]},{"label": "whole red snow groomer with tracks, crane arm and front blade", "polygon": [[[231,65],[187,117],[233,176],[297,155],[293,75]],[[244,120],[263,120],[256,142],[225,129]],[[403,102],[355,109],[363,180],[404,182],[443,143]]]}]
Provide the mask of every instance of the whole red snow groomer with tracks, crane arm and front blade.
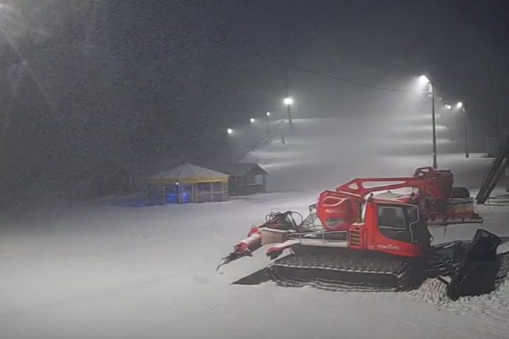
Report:
[{"label": "whole red snow groomer with tracks, crane arm and front blade", "polygon": [[[402,189],[408,192],[388,191]],[[296,216],[300,214],[293,211],[270,213],[266,223],[253,226],[219,266],[271,245],[266,252],[271,259],[284,250],[291,254],[236,283],[267,278],[294,287],[402,290],[425,277],[448,275],[451,294],[473,288],[461,273],[473,260],[498,272],[500,238],[486,230],[478,230],[469,243],[430,246],[427,225],[483,222],[474,212],[468,189],[453,187],[449,170],[423,167],[413,177],[353,179],[335,191],[323,191],[307,218],[297,223]],[[494,284],[495,279],[491,281]]]}]

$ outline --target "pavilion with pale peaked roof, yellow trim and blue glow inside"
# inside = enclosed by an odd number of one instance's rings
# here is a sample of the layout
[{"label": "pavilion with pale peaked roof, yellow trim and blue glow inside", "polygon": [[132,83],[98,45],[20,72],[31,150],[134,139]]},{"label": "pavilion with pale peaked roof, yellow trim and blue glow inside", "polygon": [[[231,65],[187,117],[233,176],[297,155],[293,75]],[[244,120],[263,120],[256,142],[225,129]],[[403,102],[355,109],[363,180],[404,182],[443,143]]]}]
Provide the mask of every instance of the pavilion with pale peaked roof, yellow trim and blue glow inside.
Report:
[{"label": "pavilion with pale peaked roof, yellow trim and blue glow inside", "polygon": [[229,175],[190,163],[148,177],[150,204],[227,201]]}]

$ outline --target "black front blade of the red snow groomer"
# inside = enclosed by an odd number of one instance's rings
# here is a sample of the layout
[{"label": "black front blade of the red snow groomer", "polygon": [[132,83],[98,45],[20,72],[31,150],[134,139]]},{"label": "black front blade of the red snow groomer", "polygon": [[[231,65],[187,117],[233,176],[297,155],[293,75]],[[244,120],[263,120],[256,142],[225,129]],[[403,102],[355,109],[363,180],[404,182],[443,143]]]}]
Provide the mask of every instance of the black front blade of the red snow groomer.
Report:
[{"label": "black front blade of the red snow groomer", "polygon": [[497,257],[500,242],[497,235],[477,230],[474,240],[459,254],[457,268],[451,272],[451,282],[447,285],[449,298],[457,300],[461,296],[478,296],[495,289],[500,270]]}]

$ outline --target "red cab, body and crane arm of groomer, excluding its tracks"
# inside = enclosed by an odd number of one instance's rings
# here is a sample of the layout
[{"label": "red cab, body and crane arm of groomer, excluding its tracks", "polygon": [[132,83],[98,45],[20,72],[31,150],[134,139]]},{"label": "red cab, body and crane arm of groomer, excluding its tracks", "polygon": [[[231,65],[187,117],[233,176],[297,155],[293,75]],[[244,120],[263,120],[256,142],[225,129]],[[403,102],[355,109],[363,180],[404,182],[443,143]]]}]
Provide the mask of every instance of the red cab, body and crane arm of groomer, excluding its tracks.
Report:
[{"label": "red cab, body and crane arm of groomer, excluding its tracks", "polygon": [[[405,188],[411,189],[410,193],[388,191]],[[465,194],[466,189],[459,189],[461,197],[456,197],[455,190],[449,170],[431,167],[418,168],[413,177],[353,179],[334,191],[323,191],[312,206],[322,229],[310,227],[306,221],[292,227],[285,218],[270,218],[251,228],[248,238],[235,245],[226,262],[268,244],[277,244],[268,248],[270,257],[297,245],[421,257],[430,244],[427,225],[482,222],[474,213],[468,191]],[[381,191],[388,192],[374,195]]]}]

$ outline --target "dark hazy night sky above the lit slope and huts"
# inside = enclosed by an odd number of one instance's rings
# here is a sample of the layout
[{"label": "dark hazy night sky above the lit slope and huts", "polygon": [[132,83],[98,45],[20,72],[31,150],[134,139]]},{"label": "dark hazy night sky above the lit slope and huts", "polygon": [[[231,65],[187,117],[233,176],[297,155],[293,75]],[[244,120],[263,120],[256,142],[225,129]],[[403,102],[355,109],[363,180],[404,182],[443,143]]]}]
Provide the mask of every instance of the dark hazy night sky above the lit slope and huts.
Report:
[{"label": "dark hazy night sky above the lit slope and huts", "polygon": [[9,201],[112,166],[221,158],[226,127],[283,114],[285,63],[297,116],[362,116],[400,95],[298,67],[395,89],[425,73],[444,100],[466,104],[477,140],[493,133],[494,109],[509,132],[508,1],[10,0],[0,10]]}]

